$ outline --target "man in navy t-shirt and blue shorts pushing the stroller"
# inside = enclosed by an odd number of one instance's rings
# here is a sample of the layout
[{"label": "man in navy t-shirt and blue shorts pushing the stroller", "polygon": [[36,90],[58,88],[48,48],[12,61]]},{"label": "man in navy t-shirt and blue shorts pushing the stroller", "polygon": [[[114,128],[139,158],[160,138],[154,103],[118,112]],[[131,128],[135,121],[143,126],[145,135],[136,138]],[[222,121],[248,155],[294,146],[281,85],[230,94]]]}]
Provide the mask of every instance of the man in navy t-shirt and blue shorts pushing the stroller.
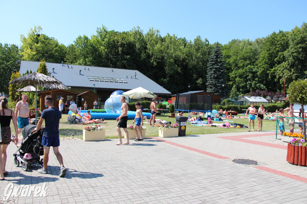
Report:
[{"label": "man in navy t-shirt and blue shorts pushing the stroller", "polygon": [[66,168],[63,165],[63,157],[59,152],[60,146],[60,136],[59,136],[59,123],[62,118],[62,113],[53,106],[53,99],[51,96],[45,97],[45,105],[48,109],[45,109],[41,114],[41,119],[37,123],[35,128],[38,131],[41,128],[43,121],[45,120],[45,128],[43,132],[43,138],[41,144],[44,146],[44,158],[43,164],[44,167],[38,169],[38,173],[48,174],[47,163],[49,160],[49,150],[50,147],[53,147],[53,152],[56,155],[57,160],[60,162],[60,177],[65,176]]}]

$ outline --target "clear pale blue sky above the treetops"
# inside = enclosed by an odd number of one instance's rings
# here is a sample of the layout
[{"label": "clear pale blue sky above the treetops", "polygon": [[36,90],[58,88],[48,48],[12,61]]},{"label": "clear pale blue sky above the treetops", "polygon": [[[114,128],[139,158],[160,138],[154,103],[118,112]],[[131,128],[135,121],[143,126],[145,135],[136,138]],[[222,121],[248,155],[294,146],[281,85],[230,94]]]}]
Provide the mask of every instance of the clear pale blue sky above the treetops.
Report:
[{"label": "clear pale blue sky above the treetops", "polygon": [[27,36],[30,28],[40,25],[42,33],[68,45],[104,25],[120,32],[140,26],[144,34],[153,27],[161,36],[169,33],[193,40],[200,35],[211,44],[226,44],[300,27],[307,22],[306,8],[306,0],[0,0],[0,43],[20,45],[20,34]]}]

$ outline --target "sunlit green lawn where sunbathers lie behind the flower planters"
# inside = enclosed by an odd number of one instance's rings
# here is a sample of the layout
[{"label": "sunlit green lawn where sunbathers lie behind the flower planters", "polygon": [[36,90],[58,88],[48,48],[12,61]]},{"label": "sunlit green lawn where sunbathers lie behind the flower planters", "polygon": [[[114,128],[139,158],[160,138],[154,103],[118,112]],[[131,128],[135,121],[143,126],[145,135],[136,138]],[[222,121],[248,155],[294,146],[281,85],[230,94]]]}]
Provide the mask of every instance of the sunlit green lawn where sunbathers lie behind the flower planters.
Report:
[{"label": "sunlit green lawn where sunbathers lie behind the flower planters", "polygon": [[[156,118],[171,121],[173,124],[176,123],[175,118],[169,118],[168,115],[157,115]],[[187,116],[187,113],[184,114]],[[79,124],[72,124],[67,122],[67,114],[62,115],[62,119],[60,119],[60,137],[77,137],[82,138],[83,129],[87,125],[79,125]],[[116,131],[117,123],[116,120],[106,120],[107,123],[103,124],[106,126],[106,138],[118,138],[118,133]],[[207,120],[205,120],[207,121]],[[235,123],[244,124],[248,126],[248,119],[233,119]],[[128,120],[128,125],[132,124],[133,120]],[[144,120],[145,122],[145,120]],[[214,123],[223,123],[215,121]],[[43,123],[45,125],[45,123]],[[255,120],[255,130],[257,130],[258,121]],[[158,136],[158,129],[159,127],[149,127],[148,123],[144,123],[146,129],[146,137],[156,137]],[[266,121],[263,120],[262,130],[275,130],[276,122],[275,121]],[[11,130],[12,134],[14,134],[14,126],[11,123]],[[186,135],[193,135],[193,134],[213,134],[213,133],[227,133],[227,132],[245,132],[247,129],[245,128],[222,128],[222,127],[208,127],[208,126],[195,126],[191,125],[187,122],[186,127]],[[123,130],[122,130],[122,137],[123,137]]]}]

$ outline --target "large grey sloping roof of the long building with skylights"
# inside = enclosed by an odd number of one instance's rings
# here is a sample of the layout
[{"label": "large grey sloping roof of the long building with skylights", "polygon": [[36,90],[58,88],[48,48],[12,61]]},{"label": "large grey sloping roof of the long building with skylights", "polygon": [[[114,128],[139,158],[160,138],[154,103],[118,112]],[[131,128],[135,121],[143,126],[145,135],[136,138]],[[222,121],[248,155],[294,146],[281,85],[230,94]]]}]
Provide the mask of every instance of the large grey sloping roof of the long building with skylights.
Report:
[{"label": "large grey sloping roof of the long building with skylights", "polygon": [[[21,61],[20,74],[26,73],[27,70],[36,72],[40,62]],[[138,70],[124,70],[107,67],[95,67],[95,66],[81,66],[81,65],[67,65],[60,63],[49,63],[46,62],[47,69],[52,72],[54,68],[54,76],[57,80],[63,82],[65,85],[70,87],[91,87],[95,84],[96,89],[116,89],[116,90],[131,90],[138,87],[142,87],[148,91],[157,94],[171,94],[168,90],[158,85],[156,82],[146,77]],[[84,69],[85,68],[85,69]],[[81,70],[81,75],[79,75]],[[136,78],[134,75],[136,74]],[[90,81],[90,77],[109,77],[123,79],[127,83],[120,82],[106,82],[106,81]],[[132,77],[132,78],[131,78]],[[112,81],[112,80],[110,80]],[[118,81],[118,80],[116,80]]]}]

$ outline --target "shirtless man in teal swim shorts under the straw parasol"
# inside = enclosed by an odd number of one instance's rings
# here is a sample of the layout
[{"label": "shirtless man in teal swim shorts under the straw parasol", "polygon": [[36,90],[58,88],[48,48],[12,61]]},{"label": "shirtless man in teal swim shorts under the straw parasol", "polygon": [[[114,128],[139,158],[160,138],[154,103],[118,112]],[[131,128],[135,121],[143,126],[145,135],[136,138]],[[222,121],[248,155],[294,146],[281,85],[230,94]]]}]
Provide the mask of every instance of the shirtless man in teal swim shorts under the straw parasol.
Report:
[{"label": "shirtless man in teal swim shorts under the straw parasol", "polygon": [[29,104],[27,103],[27,95],[21,96],[21,101],[16,104],[15,116],[18,121],[18,134],[21,133],[22,128],[29,125]]}]

